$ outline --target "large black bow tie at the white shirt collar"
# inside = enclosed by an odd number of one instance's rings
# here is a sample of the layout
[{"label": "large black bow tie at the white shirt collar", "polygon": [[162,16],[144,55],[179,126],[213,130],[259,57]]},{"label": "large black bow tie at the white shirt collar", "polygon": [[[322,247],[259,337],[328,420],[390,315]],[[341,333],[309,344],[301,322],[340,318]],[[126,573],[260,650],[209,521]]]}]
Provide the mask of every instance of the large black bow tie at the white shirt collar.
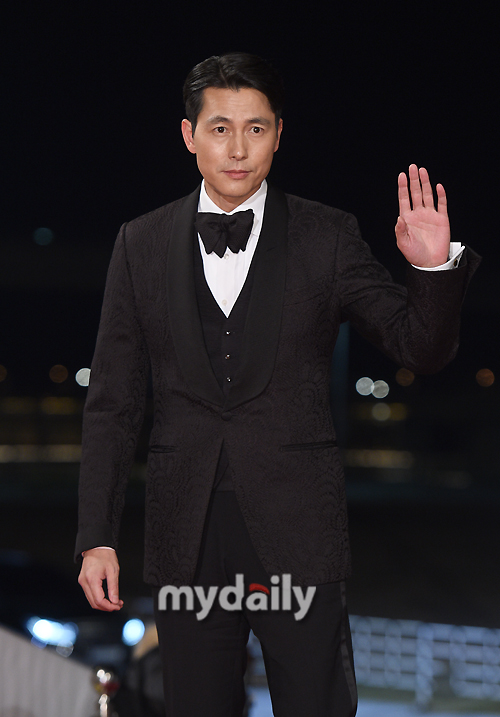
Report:
[{"label": "large black bow tie at the white shirt collar", "polygon": [[235,214],[198,212],[194,225],[207,254],[214,251],[222,259],[228,247],[234,254],[245,251],[252,231],[253,211],[247,209]]}]

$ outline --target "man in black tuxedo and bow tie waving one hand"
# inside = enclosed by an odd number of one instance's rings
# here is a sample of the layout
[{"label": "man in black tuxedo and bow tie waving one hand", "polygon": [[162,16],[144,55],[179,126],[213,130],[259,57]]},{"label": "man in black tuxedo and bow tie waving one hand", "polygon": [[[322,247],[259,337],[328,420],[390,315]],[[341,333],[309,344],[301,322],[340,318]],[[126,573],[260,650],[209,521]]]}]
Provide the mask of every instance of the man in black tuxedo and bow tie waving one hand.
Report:
[{"label": "man in black tuxedo and bow tie waving one hand", "polygon": [[[329,406],[335,340],[350,320],[400,366],[438,370],[456,351],[478,260],[460,246],[450,256],[445,191],[437,185],[436,210],[428,174],[415,165],[411,204],[406,175],[398,180],[406,289],[373,258],[351,215],[269,186],[283,98],[260,58],[209,58],[189,74],[184,97],[182,134],[203,183],[124,225],[117,239],[84,416],[79,581],[93,607],[121,608],[109,548],[150,370],[144,577],[167,714],[241,715],[252,628],[275,715],[348,717],[356,688],[347,512]],[[199,620],[159,609],[161,586],[222,589],[237,575],[247,593],[263,595],[291,576],[313,590],[307,615],[216,606]]]}]

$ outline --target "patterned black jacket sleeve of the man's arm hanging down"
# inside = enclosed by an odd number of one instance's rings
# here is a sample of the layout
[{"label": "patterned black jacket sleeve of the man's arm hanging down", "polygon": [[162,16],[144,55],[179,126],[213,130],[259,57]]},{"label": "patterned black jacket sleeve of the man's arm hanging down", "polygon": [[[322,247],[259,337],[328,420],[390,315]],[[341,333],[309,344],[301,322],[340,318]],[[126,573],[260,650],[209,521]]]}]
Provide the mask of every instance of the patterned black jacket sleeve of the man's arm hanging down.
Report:
[{"label": "patterned black jacket sleeve of the man's arm hanging down", "polygon": [[148,370],[124,224],[108,270],[84,409],[75,559],[93,547],[117,547],[126,484],[144,417]]}]

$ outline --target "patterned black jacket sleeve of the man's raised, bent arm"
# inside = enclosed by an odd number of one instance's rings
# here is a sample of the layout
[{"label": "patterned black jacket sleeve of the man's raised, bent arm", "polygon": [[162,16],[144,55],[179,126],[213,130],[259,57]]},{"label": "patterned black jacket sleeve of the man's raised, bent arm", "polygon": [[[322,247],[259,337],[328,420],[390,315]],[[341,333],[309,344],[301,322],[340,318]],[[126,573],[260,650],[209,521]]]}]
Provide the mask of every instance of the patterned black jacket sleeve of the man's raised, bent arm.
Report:
[{"label": "patterned black jacket sleeve of the man's raised, bent arm", "polygon": [[403,287],[376,261],[348,214],[337,250],[342,318],[400,366],[435,373],[458,349],[460,308],[479,262],[466,249],[456,269],[429,272],[408,264]]}]

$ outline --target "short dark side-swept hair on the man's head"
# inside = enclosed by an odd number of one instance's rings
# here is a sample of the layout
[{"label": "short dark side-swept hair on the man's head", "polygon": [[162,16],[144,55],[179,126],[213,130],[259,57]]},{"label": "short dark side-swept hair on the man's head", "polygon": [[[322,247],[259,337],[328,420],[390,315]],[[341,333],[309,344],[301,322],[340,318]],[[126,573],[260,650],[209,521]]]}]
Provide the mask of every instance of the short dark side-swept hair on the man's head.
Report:
[{"label": "short dark side-swept hair on the man's head", "polygon": [[262,92],[274,112],[278,129],[285,99],[283,80],[274,67],[261,57],[246,52],[228,52],[213,55],[193,67],[183,88],[186,114],[193,134],[203,108],[203,90],[207,87],[230,90],[248,87]]}]

